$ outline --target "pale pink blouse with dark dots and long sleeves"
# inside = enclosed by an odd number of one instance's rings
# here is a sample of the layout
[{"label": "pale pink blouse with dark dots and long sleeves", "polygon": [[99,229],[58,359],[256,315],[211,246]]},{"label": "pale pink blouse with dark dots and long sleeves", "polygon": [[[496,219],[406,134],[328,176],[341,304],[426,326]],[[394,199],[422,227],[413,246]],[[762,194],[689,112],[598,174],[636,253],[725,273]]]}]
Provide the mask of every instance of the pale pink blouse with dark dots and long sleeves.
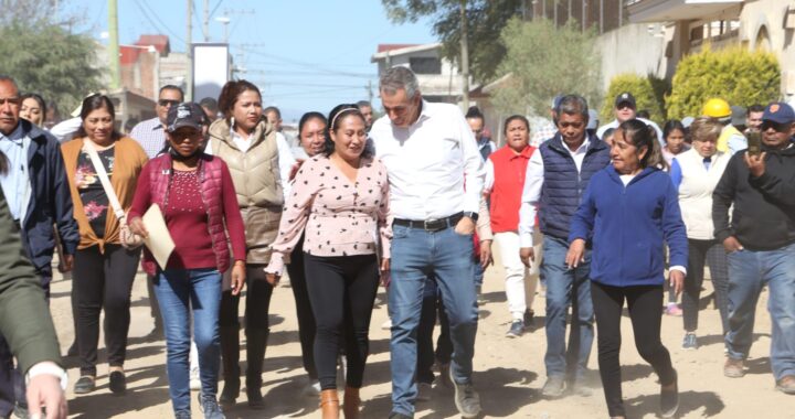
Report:
[{"label": "pale pink blouse with dark dots and long sleeves", "polygon": [[326,157],[304,162],[285,203],[278,237],[266,272],[282,275],[306,229],[304,251],[314,256],[372,255],[390,257],[392,219],[389,180],[380,160],[362,159],[351,182]]}]

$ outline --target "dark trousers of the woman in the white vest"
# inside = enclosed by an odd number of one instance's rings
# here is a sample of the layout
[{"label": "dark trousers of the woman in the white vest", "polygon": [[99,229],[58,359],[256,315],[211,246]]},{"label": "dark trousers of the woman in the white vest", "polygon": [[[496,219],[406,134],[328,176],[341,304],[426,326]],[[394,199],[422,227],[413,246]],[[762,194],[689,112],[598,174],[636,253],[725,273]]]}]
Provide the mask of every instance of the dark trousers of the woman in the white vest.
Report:
[{"label": "dark trousers of the woman in the white vest", "polygon": [[721,315],[723,334],[729,332],[729,261],[723,245],[717,240],[688,239],[688,275],[685,278],[682,293],[682,320],[685,331],[698,329],[699,298],[703,283],[704,262],[710,267],[712,287],[716,290],[716,304]]}]

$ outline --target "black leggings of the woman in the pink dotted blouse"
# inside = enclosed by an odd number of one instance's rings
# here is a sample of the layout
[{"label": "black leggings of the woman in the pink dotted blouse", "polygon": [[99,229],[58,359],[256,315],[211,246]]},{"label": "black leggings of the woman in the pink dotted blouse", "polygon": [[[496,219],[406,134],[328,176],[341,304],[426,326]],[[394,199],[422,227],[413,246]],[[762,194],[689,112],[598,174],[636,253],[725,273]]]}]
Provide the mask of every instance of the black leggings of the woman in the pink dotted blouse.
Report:
[{"label": "black leggings of the woman in the pink dotted blouse", "polygon": [[315,313],[315,365],[320,388],[337,388],[337,356],[344,333],[348,387],[361,388],[370,352],[368,332],[379,267],[375,255],[318,257],[305,254],[309,300]]}]

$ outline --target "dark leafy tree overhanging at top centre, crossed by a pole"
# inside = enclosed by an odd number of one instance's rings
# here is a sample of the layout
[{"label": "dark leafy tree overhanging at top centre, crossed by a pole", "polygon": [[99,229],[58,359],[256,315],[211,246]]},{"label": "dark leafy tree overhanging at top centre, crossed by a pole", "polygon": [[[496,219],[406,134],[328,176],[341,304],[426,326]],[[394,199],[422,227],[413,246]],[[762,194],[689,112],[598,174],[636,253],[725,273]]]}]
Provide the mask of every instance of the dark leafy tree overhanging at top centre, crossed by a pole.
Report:
[{"label": "dark leafy tree overhanging at top centre, crossed by a pole", "polygon": [[[433,32],[443,44],[443,55],[459,62],[460,0],[381,0],[395,23],[416,22],[433,17]],[[467,0],[469,72],[473,78],[487,82],[495,77],[506,54],[500,31],[521,10],[521,0]]]}]

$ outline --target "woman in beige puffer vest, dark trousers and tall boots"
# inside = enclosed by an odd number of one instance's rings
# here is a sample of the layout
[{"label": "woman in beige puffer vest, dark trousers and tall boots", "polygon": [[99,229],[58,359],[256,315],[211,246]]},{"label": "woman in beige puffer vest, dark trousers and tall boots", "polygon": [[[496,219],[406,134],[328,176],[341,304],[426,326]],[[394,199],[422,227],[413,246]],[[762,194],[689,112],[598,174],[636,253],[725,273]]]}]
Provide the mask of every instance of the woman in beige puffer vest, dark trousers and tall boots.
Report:
[{"label": "woman in beige puffer vest, dark trousers and tall boots", "polygon": [[[224,85],[219,97],[223,118],[210,126],[205,152],[229,165],[237,193],[246,235],[246,397],[248,407],[265,408],[262,397],[262,368],[271,333],[268,315],[273,284],[263,268],[271,261],[271,245],[276,238],[284,206],[286,181],[295,163],[284,137],[276,136],[263,116],[259,89],[246,80]],[[224,278],[221,299],[221,354],[224,388],[221,404],[234,405],[240,395],[240,296],[231,291]]]}]

